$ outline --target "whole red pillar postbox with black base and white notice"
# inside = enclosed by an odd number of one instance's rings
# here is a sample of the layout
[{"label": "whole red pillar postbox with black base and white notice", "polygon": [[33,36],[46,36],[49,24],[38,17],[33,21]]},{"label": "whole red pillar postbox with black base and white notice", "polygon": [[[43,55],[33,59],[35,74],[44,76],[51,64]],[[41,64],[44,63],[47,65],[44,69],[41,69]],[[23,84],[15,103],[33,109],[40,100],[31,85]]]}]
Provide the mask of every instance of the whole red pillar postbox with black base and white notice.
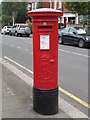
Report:
[{"label": "whole red pillar postbox with black base and white notice", "polygon": [[28,12],[33,21],[33,109],[44,115],[58,112],[58,17],[60,10]]}]

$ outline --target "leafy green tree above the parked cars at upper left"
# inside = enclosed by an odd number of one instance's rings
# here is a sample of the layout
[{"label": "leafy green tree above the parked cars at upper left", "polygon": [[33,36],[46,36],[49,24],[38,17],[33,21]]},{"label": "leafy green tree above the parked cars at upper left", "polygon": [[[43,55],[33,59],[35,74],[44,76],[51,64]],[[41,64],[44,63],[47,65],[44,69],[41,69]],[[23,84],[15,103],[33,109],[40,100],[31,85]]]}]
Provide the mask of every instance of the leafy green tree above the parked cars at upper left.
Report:
[{"label": "leafy green tree above the parked cars at upper left", "polygon": [[[27,16],[27,2],[2,2],[2,22],[4,22],[6,17],[6,24],[11,23],[11,18],[15,19],[17,23],[25,23],[28,19]],[[7,21],[10,20],[10,21]]]}]

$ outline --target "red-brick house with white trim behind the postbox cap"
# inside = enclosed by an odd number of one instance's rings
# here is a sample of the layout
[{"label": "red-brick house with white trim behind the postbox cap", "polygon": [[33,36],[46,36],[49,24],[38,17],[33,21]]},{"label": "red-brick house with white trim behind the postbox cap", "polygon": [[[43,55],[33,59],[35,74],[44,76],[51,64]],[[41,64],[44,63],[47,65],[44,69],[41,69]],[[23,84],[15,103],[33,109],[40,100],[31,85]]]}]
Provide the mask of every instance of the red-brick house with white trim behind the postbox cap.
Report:
[{"label": "red-brick house with white trim behind the postbox cap", "polygon": [[[34,2],[32,3],[32,9],[36,8],[53,8],[63,11],[63,16],[59,18],[58,22],[63,23],[64,27],[69,24],[79,24],[78,14],[72,14],[71,11],[65,8],[65,2],[61,3],[61,0],[48,0],[49,2]],[[57,2],[58,1],[58,2]]]}]

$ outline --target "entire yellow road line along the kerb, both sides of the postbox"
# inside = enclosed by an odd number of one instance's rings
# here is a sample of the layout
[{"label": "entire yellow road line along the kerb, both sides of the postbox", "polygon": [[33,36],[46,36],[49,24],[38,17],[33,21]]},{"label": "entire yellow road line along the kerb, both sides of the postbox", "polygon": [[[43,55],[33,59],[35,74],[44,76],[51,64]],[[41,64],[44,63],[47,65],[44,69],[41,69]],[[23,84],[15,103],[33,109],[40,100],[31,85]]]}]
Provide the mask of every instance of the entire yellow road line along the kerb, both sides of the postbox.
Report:
[{"label": "entire yellow road line along the kerb, both sides of the postbox", "polygon": [[[4,58],[7,59],[7,60],[10,61],[10,62],[16,64],[16,65],[19,66],[20,68],[23,68],[23,69],[26,70],[27,72],[33,74],[33,72],[32,72],[31,70],[29,70],[28,68],[20,65],[19,63],[15,62],[14,60],[12,60],[12,59],[10,59],[10,58],[8,58],[8,57],[6,57],[6,56],[4,56]],[[80,104],[82,104],[83,106],[85,106],[85,107],[87,107],[87,108],[90,109],[90,105],[89,105],[88,103],[84,102],[83,100],[81,100],[80,98],[74,96],[73,94],[69,93],[68,91],[64,90],[64,89],[61,88],[61,87],[59,87],[59,90],[60,90],[62,93],[66,94],[67,96],[69,96],[69,97],[71,97],[72,99],[74,99],[75,101],[77,101],[78,103],[80,103]]]}]

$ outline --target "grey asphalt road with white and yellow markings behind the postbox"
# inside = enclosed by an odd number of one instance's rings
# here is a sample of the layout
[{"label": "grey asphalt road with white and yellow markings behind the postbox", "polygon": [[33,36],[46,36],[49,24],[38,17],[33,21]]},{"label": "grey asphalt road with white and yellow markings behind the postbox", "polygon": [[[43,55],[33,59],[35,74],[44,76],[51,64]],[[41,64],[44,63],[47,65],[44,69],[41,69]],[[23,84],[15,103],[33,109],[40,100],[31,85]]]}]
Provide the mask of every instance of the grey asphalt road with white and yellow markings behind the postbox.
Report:
[{"label": "grey asphalt road with white and yellow markings behind the postbox", "polygon": [[[58,86],[62,88],[60,97],[85,114],[88,114],[85,105],[88,103],[89,57],[87,48],[58,46]],[[2,35],[2,58],[33,78],[32,35],[29,38]]]}]

